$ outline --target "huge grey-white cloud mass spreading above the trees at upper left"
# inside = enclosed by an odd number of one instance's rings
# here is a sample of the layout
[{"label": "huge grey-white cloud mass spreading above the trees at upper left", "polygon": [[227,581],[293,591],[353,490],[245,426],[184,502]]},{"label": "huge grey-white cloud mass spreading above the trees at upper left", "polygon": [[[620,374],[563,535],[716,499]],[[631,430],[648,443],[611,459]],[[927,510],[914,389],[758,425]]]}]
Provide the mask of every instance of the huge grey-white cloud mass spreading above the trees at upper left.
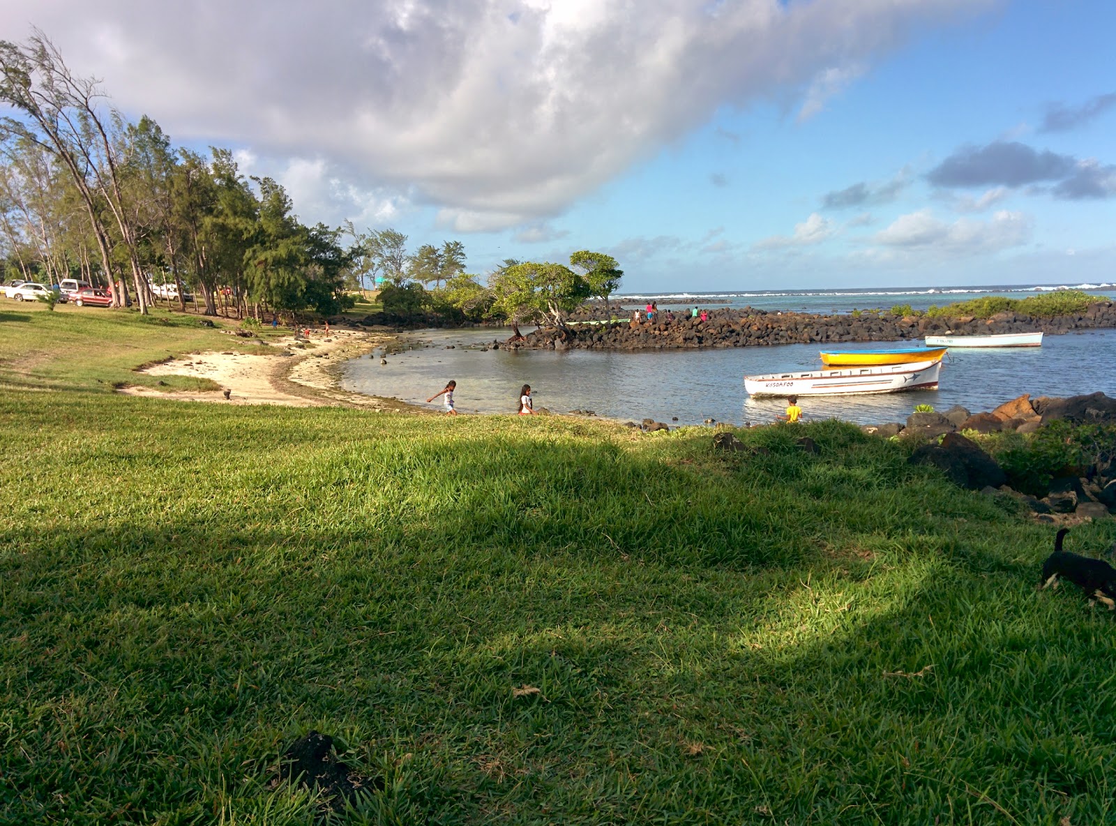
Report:
[{"label": "huge grey-white cloud mass spreading above the trees at upper left", "polygon": [[721,107],[808,86],[807,117],[913,32],[994,2],[0,0],[0,15],[13,39],[31,18],[176,142],[321,159],[327,177],[468,231],[555,215]]}]

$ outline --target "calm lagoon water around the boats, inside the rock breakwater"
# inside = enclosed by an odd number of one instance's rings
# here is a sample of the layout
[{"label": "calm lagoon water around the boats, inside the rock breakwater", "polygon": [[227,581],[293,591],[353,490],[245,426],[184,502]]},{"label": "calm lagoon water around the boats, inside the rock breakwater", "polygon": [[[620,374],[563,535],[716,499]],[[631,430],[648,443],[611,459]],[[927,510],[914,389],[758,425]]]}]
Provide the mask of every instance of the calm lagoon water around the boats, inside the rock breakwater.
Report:
[{"label": "calm lagoon water around the boats, inside the rock breakwater", "polygon": [[[427,330],[408,338],[427,346],[387,356],[387,364],[357,358],[344,366],[341,386],[358,393],[426,405],[453,378],[461,413],[514,413],[519,388],[530,384],[535,406],[554,413],[591,410],[622,421],[644,417],[674,424],[769,422],[782,411],[780,398],[752,398],[745,374],[820,369],[822,345],[730,347],[645,352],[482,350],[503,329]],[[918,342],[862,343],[841,349],[911,347]],[[454,345],[454,349],[445,349]],[[830,345],[831,346],[831,345]],[[961,404],[991,410],[1022,393],[1069,396],[1101,391],[1116,396],[1116,330],[1047,335],[1041,347],[954,349],[936,391],[863,396],[804,396],[812,419],[859,423],[903,421],[916,404],[944,411]]]}]

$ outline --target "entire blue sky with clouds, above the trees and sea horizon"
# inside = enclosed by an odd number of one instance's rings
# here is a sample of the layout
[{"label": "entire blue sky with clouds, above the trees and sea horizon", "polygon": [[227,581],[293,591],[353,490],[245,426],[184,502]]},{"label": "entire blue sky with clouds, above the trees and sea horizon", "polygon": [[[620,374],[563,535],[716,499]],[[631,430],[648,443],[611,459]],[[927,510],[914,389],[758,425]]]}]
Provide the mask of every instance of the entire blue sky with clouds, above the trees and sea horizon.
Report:
[{"label": "entire blue sky with clouds, above the trees and sea horizon", "polygon": [[477,272],[587,248],[628,292],[1116,281],[1103,0],[0,11],[305,221],[460,239]]}]

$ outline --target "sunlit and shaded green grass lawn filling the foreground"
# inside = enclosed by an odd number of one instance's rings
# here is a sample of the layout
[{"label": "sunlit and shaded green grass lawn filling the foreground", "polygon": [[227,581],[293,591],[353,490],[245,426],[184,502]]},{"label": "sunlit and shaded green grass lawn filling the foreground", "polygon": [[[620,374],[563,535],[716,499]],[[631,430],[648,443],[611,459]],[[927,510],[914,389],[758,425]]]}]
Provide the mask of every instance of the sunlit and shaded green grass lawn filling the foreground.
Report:
[{"label": "sunlit and shaded green grass lawn filling the foreground", "polygon": [[310,824],[310,729],[338,823],[1116,820],[1113,615],[899,444],[87,390],[0,388],[2,823]]}]

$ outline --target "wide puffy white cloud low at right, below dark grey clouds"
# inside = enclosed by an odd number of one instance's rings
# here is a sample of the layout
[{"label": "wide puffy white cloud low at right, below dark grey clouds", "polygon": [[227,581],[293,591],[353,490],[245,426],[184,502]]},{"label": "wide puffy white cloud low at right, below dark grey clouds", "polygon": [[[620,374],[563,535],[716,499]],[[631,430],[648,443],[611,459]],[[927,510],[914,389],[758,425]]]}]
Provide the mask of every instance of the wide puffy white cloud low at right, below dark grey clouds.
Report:
[{"label": "wide puffy white cloud low at right, below dark grey clouds", "polygon": [[947,223],[930,210],[899,215],[873,238],[878,244],[896,249],[930,249],[940,252],[995,252],[1026,243],[1031,237],[1031,220],[1021,212],[1001,210],[988,221],[959,219]]}]

